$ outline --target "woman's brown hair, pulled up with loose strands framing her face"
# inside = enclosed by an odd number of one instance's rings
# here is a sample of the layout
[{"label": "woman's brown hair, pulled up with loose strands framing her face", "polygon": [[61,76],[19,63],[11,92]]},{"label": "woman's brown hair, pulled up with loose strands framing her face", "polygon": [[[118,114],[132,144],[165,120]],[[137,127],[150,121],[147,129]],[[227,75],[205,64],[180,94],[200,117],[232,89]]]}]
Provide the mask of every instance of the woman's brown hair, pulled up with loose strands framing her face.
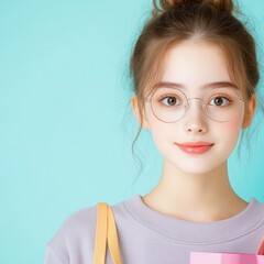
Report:
[{"label": "woman's brown hair, pulled up with loose strands framing her face", "polygon": [[239,10],[232,0],[153,0],[153,6],[152,18],[130,61],[141,117],[132,150],[142,130],[144,98],[161,78],[165,54],[172,46],[187,40],[218,45],[226,55],[230,78],[241,87],[245,102],[255,94],[260,79],[254,38],[233,15]]}]

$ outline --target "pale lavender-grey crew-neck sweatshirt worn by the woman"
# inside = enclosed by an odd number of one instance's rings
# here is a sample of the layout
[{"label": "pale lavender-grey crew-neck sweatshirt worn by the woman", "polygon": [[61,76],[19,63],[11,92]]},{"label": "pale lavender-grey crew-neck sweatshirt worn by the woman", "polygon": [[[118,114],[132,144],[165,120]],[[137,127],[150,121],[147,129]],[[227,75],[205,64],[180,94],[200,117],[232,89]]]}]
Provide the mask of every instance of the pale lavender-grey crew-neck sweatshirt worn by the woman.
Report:
[{"label": "pale lavender-grey crew-neck sweatshirt worn by the woman", "polygon": [[[264,204],[255,198],[239,215],[215,222],[168,217],[140,195],[111,208],[122,264],[189,264],[191,251],[255,253],[264,235]],[[92,264],[96,221],[96,205],[69,216],[47,243],[45,264]],[[106,263],[113,263],[109,250]]]}]

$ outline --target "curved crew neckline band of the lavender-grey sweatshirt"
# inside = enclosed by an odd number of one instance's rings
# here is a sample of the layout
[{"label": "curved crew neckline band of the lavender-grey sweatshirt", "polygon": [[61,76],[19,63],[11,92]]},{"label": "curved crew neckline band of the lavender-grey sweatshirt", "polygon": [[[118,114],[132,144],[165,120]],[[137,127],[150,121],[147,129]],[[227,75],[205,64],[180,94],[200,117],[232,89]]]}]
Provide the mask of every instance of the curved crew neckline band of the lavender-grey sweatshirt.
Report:
[{"label": "curved crew neckline band of the lavender-grey sweatshirt", "polygon": [[251,198],[246,208],[231,218],[213,222],[191,222],[147,207],[140,195],[123,202],[124,210],[141,226],[167,239],[188,244],[220,243],[251,232],[263,220],[263,213],[260,213],[263,208],[258,205],[255,198]]}]

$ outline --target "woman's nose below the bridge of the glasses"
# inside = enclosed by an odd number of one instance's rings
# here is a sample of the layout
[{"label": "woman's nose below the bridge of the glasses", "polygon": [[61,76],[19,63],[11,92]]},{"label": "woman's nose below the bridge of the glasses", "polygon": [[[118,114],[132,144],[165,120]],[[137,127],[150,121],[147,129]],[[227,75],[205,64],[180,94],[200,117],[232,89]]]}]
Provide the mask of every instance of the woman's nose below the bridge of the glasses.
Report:
[{"label": "woman's nose below the bridge of the glasses", "polygon": [[[197,99],[193,100],[191,99]],[[191,98],[184,117],[185,131],[194,134],[204,134],[208,131],[207,117],[202,109],[202,100]]]}]

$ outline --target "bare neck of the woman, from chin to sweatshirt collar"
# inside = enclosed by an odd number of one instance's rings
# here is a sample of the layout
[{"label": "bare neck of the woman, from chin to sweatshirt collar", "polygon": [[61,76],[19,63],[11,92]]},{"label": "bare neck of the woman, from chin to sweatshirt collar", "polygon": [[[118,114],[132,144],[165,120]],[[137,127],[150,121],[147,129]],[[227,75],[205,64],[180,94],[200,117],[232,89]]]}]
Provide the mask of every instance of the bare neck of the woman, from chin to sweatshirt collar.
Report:
[{"label": "bare neck of the woman, from chin to sweatshirt collar", "polygon": [[204,222],[229,218],[246,207],[230,185],[227,162],[196,175],[165,162],[160,183],[143,201],[162,213]]}]

